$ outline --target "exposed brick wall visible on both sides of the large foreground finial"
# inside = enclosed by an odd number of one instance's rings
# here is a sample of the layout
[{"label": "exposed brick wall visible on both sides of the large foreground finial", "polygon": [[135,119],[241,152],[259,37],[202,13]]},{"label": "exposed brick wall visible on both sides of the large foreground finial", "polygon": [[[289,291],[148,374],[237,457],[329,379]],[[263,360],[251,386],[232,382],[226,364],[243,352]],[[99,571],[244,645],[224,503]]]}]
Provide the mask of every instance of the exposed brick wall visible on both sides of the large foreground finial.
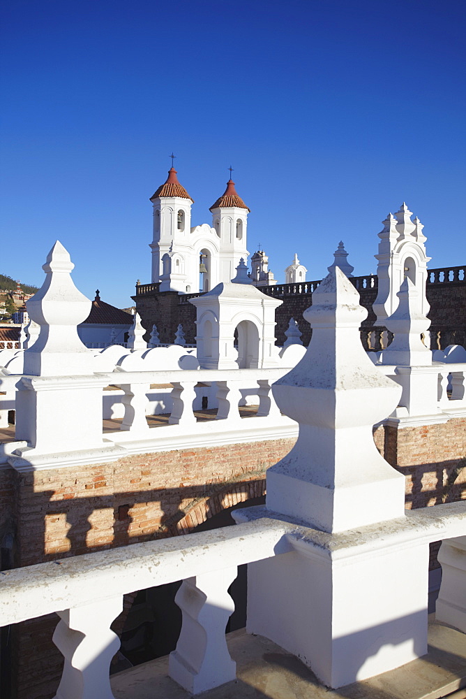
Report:
[{"label": "exposed brick wall visible on both sides of the large foreground finial", "polygon": [[[407,507],[466,498],[466,468],[458,469],[466,456],[466,419],[379,426],[374,440],[405,475]],[[275,440],[128,456],[77,470],[3,470],[1,522],[7,530],[15,521],[15,565],[191,531],[213,514],[262,495],[266,468],[292,445],[293,440]],[[432,547],[432,568],[437,548]],[[15,699],[54,696],[61,674],[61,656],[52,643],[56,624],[52,615],[13,629]],[[121,627],[119,619],[114,628]]]}]

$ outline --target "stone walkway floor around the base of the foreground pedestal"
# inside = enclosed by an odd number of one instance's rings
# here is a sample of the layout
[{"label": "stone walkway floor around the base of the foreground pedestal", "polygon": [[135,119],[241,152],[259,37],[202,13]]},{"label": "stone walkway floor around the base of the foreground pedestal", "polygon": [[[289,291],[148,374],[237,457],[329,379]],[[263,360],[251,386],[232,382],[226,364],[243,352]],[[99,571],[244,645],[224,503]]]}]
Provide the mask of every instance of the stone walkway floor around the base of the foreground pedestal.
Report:
[{"label": "stone walkway floor around the base of the foreground pedestal", "polygon": [[[202,699],[451,699],[466,697],[466,635],[429,624],[426,656],[364,682],[328,689],[295,656],[262,636],[241,629],[227,635],[237,679],[202,693]],[[115,699],[190,699],[167,676],[168,658],[112,676]]]}]

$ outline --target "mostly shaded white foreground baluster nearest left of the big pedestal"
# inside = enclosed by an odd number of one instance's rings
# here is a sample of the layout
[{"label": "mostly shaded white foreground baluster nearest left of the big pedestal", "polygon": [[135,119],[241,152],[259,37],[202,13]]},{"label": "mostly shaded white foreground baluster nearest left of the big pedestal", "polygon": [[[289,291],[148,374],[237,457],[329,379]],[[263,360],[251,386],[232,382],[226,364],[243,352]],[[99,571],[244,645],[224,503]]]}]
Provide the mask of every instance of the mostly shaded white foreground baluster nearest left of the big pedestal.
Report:
[{"label": "mostly shaded white foreground baluster nearest left of the big pedestal", "polygon": [[183,580],[175,602],[183,612],[176,649],[170,653],[169,674],[191,694],[236,679],[225,638],[234,610],[228,588],[237,568],[226,568]]}]

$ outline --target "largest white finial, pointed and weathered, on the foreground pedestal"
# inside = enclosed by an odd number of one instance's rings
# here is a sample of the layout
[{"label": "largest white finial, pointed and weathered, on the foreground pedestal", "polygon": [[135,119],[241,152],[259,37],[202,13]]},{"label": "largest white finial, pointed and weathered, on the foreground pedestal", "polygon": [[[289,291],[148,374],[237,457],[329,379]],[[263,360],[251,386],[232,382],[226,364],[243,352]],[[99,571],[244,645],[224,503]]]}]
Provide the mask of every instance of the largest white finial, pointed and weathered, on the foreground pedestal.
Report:
[{"label": "largest white finial, pointed and weathered, on the foreground pedestal", "polygon": [[303,314],[313,327],[306,354],[272,389],[280,410],[299,423],[299,437],[267,470],[266,507],[326,532],[405,513],[404,477],[372,436],[401,387],[364,352],[359,326],[367,313],[350,280],[331,269]]}]

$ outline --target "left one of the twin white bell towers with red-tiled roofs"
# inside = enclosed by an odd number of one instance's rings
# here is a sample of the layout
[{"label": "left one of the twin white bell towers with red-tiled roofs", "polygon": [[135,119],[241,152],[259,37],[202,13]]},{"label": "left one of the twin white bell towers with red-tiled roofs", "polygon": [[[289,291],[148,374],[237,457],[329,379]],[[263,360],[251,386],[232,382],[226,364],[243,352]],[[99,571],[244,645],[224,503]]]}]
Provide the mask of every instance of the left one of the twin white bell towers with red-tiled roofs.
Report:
[{"label": "left one of the twin white bell towers with red-tiled roofs", "polygon": [[[191,254],[191,206],[193,199],[180,185],[171,167],[168,178],[151,196],[153,203],[152,281],[160,291],[186,292]],[[194,290],[194,289],[193,289]]]}]

